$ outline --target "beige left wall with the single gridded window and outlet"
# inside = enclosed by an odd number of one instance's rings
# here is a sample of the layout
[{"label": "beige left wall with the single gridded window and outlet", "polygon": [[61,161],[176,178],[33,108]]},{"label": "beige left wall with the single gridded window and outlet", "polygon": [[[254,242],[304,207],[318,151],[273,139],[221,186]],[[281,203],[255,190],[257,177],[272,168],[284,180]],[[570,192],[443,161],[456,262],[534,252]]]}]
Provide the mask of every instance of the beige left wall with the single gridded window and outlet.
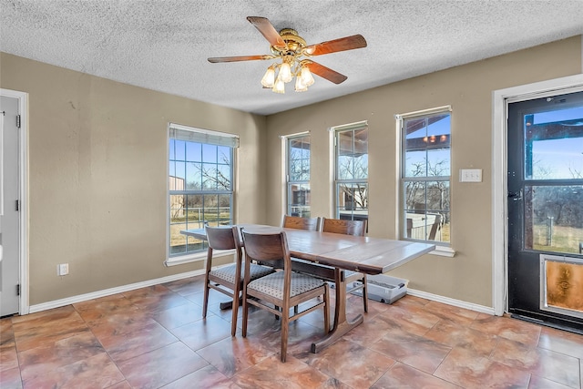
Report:
[{"label": "beige left wall with the single gridded window and outlet", "polygon": [[31,305],[201,269],[163,264],[169,122],[240,135],[237,216],[264,221],[264,117],[5,53],[0,63],[0,87],[29,94]]}]

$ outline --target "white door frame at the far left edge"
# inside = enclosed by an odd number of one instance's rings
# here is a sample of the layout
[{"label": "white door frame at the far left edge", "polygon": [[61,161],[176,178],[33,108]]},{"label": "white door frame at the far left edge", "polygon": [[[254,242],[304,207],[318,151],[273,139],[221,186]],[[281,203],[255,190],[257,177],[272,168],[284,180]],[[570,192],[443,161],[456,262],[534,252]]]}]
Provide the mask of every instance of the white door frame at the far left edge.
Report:
[{"label": "white door frame at the far left edge", "polygon": [[28,314],[28,94],[16,90],[0,88],[0,95],[13,97],[18,100],[20,113],[19,130],[19,193],[20,193],[20,241],[19,241],[19,273],[20,273],[20,297],[18,301],[18,313]]}]

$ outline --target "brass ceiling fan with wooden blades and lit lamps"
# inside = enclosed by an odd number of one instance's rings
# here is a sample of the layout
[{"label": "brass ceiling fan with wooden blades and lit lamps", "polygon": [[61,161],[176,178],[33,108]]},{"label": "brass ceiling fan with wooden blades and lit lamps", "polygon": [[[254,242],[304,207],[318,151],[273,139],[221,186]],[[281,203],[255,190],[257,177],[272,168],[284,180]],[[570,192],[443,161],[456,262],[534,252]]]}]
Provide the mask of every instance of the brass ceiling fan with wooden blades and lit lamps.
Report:
[{"label": "brass ceiling fan with wooden blades and lit lamps", "polygon": [[[312,73],[325,78],[334,84],[346,80],[346,76],[329,67],[308,59],[311,56],[322,56],[339,51],[353,50],[366,47],[366,40],[361,35],[345,36],[343,38],[322,42],[315,45],[306,45],[306,41],[292,28],[283,28],[279,33],[271,22],[261,16],[248,16],[247,20],[255,26],[271,45],[271,54],[260,56],[219,56],[210,57],[210,63],[239,62],[254,60],[271,60],[281,58],[281,64],[274,63],[268,67],[261,85],[271,88],[273,92],[285,93],[285,83],[296,77],[295,90],[302,92],[310,87],[314,80]],[[305,57],[305,58],[304,58]],[[277,77],[276,77],[277,71]]]}]

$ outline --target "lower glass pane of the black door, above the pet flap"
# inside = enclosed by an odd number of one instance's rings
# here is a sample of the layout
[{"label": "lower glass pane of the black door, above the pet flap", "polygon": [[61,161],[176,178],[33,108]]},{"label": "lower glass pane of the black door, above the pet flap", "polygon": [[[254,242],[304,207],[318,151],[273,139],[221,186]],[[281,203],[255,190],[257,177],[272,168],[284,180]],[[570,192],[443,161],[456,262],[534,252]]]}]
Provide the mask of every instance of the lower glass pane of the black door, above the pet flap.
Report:
[{"label": "lower glass pane of the black door, above the pet flap", "polygon": [[583,185],[525,186],[525,248],[581,253]]}]

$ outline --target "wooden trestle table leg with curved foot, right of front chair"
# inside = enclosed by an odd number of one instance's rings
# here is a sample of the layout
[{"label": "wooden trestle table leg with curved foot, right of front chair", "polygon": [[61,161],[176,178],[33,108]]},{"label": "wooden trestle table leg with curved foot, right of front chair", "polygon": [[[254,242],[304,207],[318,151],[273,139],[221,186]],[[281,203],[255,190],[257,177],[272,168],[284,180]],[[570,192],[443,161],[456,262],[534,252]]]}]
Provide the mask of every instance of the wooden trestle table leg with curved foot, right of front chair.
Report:
[{"label": "wooden trestle table leg with curved foot, right of front chair", "polygon": [[321,341],[312,343],[312,353],[318,353],[332,343],[336,342],[357,325],[364,321],[363,315],[357,315],[352,321],[346,320],[346,281],[344,271],[336,268],[334,271],[334,282],[336,283],[336,307],[334,309],[334,325],[332,331]]}]

